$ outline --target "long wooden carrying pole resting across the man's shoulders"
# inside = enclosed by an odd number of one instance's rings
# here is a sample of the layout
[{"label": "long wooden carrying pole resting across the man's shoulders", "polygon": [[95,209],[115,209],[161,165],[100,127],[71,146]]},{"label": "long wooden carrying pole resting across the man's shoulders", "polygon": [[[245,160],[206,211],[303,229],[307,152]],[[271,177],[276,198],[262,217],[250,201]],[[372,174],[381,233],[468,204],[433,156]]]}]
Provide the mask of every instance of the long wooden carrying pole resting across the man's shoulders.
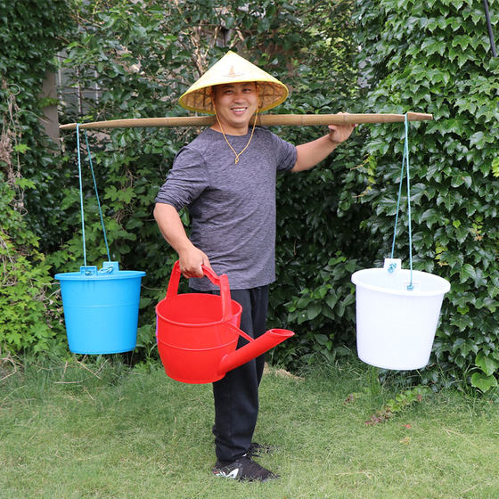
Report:
[{"label": "long wooden carrying pole resting across the man's shoulders", "polygon": [[[433,119],[432,114],[408,112],[409,121]],[[346,125],[348,123],[395,123],[404,121],[404,114],[262,114],[257,118],[257,125],[290,125],[307,127],[313,125]],[[178,116],[166,118],[111,119],[82,123],[79,127],[92,128],[132,128],[132,127],[209,127],[215,123],[214,116]],[[251,119],[250,124],[253,124]],[[61,125],[61,130],[76,130],[76,123]]]}]

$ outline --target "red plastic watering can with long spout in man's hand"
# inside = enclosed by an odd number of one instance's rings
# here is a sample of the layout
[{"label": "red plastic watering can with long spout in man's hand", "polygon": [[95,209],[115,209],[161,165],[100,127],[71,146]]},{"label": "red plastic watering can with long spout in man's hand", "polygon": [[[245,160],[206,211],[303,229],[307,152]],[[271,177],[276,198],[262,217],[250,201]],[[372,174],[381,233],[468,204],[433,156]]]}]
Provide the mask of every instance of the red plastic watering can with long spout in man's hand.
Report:
[{"label": "red plastic watering can with long spout in man's hand", "polygon": [[[294,332],[271,329],[252,339],[239,329],[242,307],[231,299],[229,279],[202,266],[220,296],[178,294],[180,265],[173,266],[167,296],[156,306],[158,350],[167,375],[184,383],[212,383],[227,371],[274,348]],[[236,350],[239,337],[249,343]]]}]

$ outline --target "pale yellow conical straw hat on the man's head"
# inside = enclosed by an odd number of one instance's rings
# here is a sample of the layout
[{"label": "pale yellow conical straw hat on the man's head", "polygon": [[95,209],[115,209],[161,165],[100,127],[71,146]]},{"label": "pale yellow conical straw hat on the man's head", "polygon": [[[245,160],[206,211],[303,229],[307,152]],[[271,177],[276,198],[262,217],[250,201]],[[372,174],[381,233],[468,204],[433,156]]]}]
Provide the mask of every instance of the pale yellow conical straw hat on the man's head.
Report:
[{"label": "pale yellow conical straw hat on the man's head", "polygon": [[229,51],[217,61],[194,85],[179,99],[179,104],[187,109],[215,114],[211,100],[211,87],[227,83],[245,81],[258,82],[258,112],[269,110],[286,100],[288,87],[278,79],[260,70],[255,64],[243,59],[241,55]]}]

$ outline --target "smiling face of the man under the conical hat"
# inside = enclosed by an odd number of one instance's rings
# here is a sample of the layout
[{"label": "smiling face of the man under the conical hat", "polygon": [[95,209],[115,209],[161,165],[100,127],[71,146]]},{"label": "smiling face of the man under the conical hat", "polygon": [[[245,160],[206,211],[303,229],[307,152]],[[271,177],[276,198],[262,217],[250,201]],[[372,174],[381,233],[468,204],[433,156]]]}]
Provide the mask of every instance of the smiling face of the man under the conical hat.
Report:
[{"label": "smiling face of the man under the conical hat", "polygon": [[249,119],[257,110],[257,85],[251,81],[214,86],[213,101],[225,132],[244,135]]}]

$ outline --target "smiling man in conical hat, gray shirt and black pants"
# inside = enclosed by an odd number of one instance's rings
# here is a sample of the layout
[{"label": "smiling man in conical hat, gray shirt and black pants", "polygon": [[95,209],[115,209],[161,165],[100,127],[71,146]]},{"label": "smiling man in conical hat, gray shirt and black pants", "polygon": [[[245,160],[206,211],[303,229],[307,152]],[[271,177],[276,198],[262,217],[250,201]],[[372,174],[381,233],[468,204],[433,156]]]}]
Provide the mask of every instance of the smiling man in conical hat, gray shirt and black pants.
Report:
[{"label": "smiling man in conical hat, gray shirt and black pants", "polygon": [[[154,217],[178,253],[193,290],[213,292],[201,266],[227,274],[232,299],[242,306],[241,330],[253,338],[266,331],[268,285],[275,280],[275,179],[277,171],[314,167],[351,134],[352,125],[299,146],[262,127],[253,115],[283,102],[288,89],[236,53],[226,53],[180,98],[188,110],[216,115],[176,155],[156,198]],[[189,208],[190,237],[178,216]],[[218,477],[277,478],[252,456],[266,449],[251,442],[258,417],[258,385],[265,356],[227,372],[213,384]]]}]

